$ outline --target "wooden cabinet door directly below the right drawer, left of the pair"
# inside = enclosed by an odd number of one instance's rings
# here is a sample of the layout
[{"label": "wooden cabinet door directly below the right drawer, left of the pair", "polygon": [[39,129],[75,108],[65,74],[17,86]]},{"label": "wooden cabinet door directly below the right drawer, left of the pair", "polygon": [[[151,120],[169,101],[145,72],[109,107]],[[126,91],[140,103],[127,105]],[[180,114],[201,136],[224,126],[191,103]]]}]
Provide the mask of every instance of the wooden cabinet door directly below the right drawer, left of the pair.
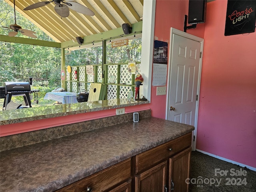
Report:
[{"label": "wooden cabinet door directly below the right drawer, left of the pair", "polygon": [[164,192],[167,161],[135,176],[135,192]]}]

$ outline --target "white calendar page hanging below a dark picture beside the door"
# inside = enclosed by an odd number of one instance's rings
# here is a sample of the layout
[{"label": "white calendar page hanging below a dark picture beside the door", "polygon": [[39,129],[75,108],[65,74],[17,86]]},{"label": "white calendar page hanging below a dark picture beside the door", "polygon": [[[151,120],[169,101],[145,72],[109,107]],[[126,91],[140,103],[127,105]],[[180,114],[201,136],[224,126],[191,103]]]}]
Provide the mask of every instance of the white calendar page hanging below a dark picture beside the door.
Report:
[{"label": "white calendar page hanging below a dark picture beside the door", "polygon": [[167,78],[167,65],[153,63],[152,86],[165,86]]}]

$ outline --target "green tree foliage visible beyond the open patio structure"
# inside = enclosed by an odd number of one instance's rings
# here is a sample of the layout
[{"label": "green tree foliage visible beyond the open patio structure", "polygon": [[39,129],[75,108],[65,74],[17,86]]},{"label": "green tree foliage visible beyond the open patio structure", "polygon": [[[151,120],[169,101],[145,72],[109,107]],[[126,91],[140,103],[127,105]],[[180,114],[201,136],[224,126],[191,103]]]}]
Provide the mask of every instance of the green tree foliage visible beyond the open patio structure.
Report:
[{"label": "green tree foliage visible beyond the open patio structure", "polygon": [[[16,11],[16,22],[24,29],[33,30],[40,40],[53,41],[47,34]],[[0,26],[14,24],[14,9],[0,0]],[[8,30],[0,30],[8,35]],[[18,33],[17,36],[28,38]],[[29,81],[33,86],[60,87],[61,50],[43,46],[0,42],[0,86],[6,81]],[[111,48],[107,45],[106,63],[126,63],[141,60],[141,39],[129,41],[127,46]],[[71,51],[65,56],[66,66],[102,64],[102,46]],[[39,89],[39,88],[38,88]]]}]

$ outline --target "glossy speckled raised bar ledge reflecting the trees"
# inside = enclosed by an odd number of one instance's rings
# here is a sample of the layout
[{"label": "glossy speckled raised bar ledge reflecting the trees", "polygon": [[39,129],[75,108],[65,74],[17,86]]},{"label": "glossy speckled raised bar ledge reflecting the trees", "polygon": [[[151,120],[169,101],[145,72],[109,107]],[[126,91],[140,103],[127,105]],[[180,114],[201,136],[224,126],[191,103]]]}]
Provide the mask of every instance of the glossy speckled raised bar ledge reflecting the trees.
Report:
[{"label": "glossy speckled raised bar ledge reflecting the trees", "polygon": [[126,98],[122,98],[73,104],[31,107],[15,110],[0,110],[0,126],[52,117],[94,112],[99,110],[122,108],[147,103],[149,103],[149,101],[140,100],[135,102],[129,102]]}]

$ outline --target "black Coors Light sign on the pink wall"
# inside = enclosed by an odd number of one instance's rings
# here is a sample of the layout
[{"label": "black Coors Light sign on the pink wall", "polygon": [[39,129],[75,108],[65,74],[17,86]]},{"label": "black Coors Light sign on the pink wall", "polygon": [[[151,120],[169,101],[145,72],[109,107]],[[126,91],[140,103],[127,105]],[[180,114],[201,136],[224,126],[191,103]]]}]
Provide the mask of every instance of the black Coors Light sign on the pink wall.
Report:
[{"label": "black Coors Light sign on the pink wall", "polygon": [[225,36],[255,31],[256,0],[228,0]]}]

